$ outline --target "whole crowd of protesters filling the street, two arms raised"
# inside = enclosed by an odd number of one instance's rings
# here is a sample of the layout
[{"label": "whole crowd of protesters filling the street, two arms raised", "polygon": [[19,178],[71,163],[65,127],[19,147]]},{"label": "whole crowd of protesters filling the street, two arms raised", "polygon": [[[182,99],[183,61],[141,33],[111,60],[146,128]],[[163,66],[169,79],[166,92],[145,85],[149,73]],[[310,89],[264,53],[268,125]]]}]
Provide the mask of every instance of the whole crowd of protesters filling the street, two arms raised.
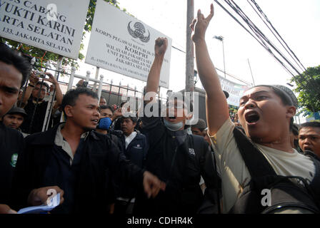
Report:
[{"label": "whole crowd of protesters filling the street, two arms raised", "polygon": [[[126,102],[118,108],[99,98],[83,81],[63,95],[51,73],[40,78],[1,44],[0,213],[46,204],[52,190],[60,193],[60,204],[50,213],[319,212],[320,123],[293,123],[293,93],[269,85],[246,90],[230,118],[229,94],[204,38],[213,16],[211,5],[209,16],[198,11],[191,24],[207,117],[191,125],[186,97],[168,99],[164,117],[139,117]],[[167,45],[166,38],[155,41],[144,95],[158,92]],[[55,100],[43,131],[49,91]],[[163,104],[154,96],[144,100],[147,105]],[[282,180],[287,188],[276,184]],[[266,187],[286,195],[294,189],[299,202],[288,197],[281,207],[275,204],[278,210],[266,209],[256,197]]]}]

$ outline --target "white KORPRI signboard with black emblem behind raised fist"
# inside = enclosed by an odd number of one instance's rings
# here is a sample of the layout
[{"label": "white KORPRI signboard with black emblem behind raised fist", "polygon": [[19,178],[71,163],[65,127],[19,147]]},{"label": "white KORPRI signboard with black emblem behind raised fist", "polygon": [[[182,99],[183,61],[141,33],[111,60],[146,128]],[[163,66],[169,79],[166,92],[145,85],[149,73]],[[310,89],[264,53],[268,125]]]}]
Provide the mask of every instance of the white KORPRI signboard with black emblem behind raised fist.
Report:
[{"label": "white KORPRI signboard with black emblem behind raised fist", "polygon": [[169,88],[171,38],[98,0],[85,62],[146,81],[154,61],[154,41],[158,37],[168,38],[159,86]]}]

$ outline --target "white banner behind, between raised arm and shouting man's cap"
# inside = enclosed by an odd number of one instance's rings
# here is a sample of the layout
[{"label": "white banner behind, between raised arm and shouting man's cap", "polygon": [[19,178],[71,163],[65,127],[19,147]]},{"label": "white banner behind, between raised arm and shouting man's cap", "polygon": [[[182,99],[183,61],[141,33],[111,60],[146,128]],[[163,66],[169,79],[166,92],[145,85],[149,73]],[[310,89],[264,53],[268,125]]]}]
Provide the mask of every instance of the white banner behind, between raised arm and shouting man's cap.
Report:
[{"label": "white banner behind, between raised arm and shouting man's cap", "polygon": [[251,86],[234,83],[221,76],[219,76],[219,79],[222,90],[225,90],[229,93],[229,98],[226,99],[228,105],[234,105],[239,107],[240,98],[244,93],[244,90],[250,88]]}]

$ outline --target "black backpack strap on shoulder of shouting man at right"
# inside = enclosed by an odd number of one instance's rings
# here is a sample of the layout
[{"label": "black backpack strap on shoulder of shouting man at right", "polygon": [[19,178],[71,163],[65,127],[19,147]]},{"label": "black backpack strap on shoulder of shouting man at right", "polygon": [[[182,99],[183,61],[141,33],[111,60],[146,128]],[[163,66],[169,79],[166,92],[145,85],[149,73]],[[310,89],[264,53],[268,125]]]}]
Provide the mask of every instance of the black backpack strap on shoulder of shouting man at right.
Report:
[{"label": "black backpack strap on shoulder of shouting man at right", "polygon": [[241,157],[246,167],[248,167],[251,179],[256,180],[259,177],[276,175],[266,157],[238,128],[234,128],[234,138],[239,147]]}]

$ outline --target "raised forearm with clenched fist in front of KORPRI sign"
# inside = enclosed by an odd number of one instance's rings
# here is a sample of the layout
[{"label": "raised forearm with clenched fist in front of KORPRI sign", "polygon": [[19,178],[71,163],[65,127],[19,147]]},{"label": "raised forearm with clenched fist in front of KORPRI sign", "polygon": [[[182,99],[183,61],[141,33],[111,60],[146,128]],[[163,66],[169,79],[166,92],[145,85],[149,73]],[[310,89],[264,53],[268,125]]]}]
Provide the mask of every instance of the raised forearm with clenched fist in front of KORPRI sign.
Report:
[{"label": "raised forearm with clenched fist in front of KORPRI sign", "polygon": [[[168,40],[166,38],[159,37],[154,44],[154,63],[152,63],[148,80],[146,81],[146,93],[157,93],[159,88],[161,66],[164,62],[164,54],[168,46]],[[148,101],[146,101],[148,103]]]}]

